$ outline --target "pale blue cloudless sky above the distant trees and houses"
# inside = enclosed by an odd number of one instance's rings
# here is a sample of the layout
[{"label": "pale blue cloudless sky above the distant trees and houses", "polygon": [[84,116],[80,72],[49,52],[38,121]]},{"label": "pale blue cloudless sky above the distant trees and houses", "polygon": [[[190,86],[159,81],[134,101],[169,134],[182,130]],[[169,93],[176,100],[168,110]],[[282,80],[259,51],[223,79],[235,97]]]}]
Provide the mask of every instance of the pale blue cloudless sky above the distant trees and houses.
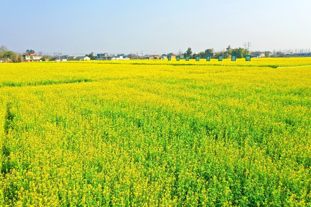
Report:
[{"label": "pale blue cloudless sky above the distant trees and houses", "polygon": [[46,53],[311,48],[310,0],[5,1],[0,45]]}]

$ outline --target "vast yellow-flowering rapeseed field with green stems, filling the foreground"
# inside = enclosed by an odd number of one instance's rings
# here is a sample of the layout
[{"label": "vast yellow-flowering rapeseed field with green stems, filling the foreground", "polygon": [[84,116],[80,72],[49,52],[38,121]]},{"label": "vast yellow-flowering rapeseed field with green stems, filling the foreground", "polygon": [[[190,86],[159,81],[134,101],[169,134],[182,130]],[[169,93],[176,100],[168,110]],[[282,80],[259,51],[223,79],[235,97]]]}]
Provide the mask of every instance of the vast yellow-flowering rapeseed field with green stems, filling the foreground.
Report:
[{"label": "vast yellow-flowering rapeseed field with green stems, filling the foreground", "polygon": [[0,67],[0,206],[311,205],[311,67]]}]

